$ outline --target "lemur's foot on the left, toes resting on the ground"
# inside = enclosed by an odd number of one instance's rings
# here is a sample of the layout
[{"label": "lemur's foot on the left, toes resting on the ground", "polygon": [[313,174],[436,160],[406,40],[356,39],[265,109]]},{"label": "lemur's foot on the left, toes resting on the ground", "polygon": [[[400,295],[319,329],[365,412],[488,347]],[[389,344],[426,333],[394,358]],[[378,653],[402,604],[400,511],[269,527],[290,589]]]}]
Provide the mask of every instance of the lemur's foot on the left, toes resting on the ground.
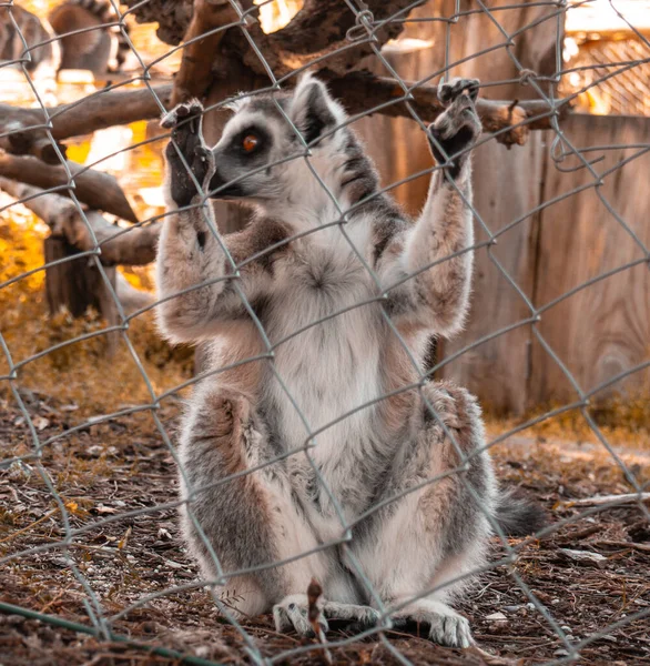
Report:
[{"label": "lemur's foot on the left, toes resting on the ground", "polygon": [[[318,599],[318,625],[323,633],[329,630],[329,624],[345,625],[355,632],[363,632],[377,625],[379,613],[369,606],[339,604]],[[273,607],[273,617],[278,632],[295,630],[301,636],[314,636],[314,629],[307,617],[308,602],[304,594],[285,597]]]}]

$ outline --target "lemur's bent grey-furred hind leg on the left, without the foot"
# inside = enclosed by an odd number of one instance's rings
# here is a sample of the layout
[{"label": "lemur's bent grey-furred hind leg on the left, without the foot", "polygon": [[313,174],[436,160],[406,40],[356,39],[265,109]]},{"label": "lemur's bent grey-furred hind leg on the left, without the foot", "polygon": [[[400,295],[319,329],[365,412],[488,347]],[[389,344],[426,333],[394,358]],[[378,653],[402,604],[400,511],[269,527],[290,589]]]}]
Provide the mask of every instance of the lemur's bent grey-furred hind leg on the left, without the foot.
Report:
[{"label": "lemur's bent grey-furred hind leg on the left, without the foot", "polygon": [[[184,536],[206,579],[228,576],[217,591],[224,603],[256,615],[288,595],[305,597],[299,593],[328,572],[332,555],[321,552],[268,567],[318,544],[282,462],[250,472],[277,455],[250,400],[221,386],[200,387],[182,427],[180,452]],[[264,568],[246,572],[255,567]],[[308,623],[296,628],[311,630]]]}]

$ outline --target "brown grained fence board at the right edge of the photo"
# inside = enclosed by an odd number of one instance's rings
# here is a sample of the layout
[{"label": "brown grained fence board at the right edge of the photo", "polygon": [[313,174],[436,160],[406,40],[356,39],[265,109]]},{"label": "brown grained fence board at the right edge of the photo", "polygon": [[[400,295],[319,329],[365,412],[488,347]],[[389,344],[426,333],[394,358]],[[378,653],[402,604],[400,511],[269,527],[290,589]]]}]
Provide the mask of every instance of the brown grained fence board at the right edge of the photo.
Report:
[{"label": "brown grained fence board at the right edge of the photo", "polygon": [[[607,175],[600,193],[650,248],[650,119],[576,115],[565,125],[565,134],[576,148],[647,147],[597,150],[585,157],[592,160],[605,155],[592,167],[600,174],[627,158],[640,155]],[[576,158],[568,158],[560,167],[578,164]],[[548,157],[547,172],[545,201],[596,182],[586,169],[562,173]],[[541,213],[536,303],[544,306],[580,284],[643,256],[595,188],[572,194]],[[538,330],[583,391],[650,361],[650,264],[622,270],[559,302],[542,313]],[[650,369],[607,387],[595,400],[613,391],[649,395]],[[559,365],[534,336],[529,401],[566,403],[577,397]]]}]

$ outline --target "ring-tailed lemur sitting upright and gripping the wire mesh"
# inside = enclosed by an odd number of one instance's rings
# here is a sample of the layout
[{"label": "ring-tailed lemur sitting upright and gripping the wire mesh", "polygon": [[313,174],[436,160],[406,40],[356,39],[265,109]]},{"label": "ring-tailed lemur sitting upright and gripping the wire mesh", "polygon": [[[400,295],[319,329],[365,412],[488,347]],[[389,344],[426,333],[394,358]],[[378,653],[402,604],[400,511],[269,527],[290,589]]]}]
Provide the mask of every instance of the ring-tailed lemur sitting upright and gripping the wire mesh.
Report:
[{"label": "ring-tailed lemur sitting upright and gripping the wire mesh", "polygon": [[[213,149],[203,141],[197,102],[163,119],[173,141],[159,323],[173,342],[211,341],[214,369],[225,369],[196,387],[182,426],[181,494],[209,544],[186,506],[184,536],[206,578],[219,576],[211,549],[233,574],[222,592],[237,599],[237,610],[273,609],[278,630],[311,632],[305,592],[316,577],[323,628],[328,618],[372,625],[383,606],[394,624],[419,623],[433,640],[468,646],[468,623],[447,602],[486,557],[484,511],[506,529],[530,517],[530,507],[498,490],[480,450],[476,400],[448,382],[418,383],[403,346],[422,363],[428,336],[457,331],[467,310],[473,259],[463,250],[473,244],[467,151],[480,133],[477,83],[440,88],[447,109],[429,128],[431,145],[438,161],[438,145],[454,157],[443,162],[446,174],[434,174],[415,224],[379,193],[342,107],[311,77],[293,94],[236,102]],[[318,179],[304,159],[287,159],[302,150],[287,118],[309,144]],[[253,204],[251,224],[217,238],[193,178],[214,198]],[[345,234],[331,196],[347,211]],[[318,474],[301,451],[309,432]],[[471,455],[463,474],[484,511],[450,472],[460,464],[456,445]],[[263,466],[272,458],[280,461]],[[324,546],[344,535],[329,493],[352,525],[346,549],[346,549]]]}]

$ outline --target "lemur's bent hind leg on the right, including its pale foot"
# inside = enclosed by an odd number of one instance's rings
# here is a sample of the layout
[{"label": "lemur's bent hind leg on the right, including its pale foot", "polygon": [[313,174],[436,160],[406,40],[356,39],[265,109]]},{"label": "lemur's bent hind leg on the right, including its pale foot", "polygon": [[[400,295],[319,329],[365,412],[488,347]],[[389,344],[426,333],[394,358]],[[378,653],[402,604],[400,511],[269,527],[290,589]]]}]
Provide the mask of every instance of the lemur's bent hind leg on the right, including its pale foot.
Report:
[{"label": "lemur's bent hind leg on the right, including its pale foot", "polygon": [[[465,475],[490,513],[497,485],[489,456],[476,453],[484,433],[475,398],[450,383],[429,383],[422,391],[414,414],[416,434],[398,452],[379,501],[402,496],[359,525],[351,547],[383,603],[395,609],[396,624],[424,625],[431,640],[467,647],[469,624],[446,602],[468,583],[454,579],[484,562],[490,527],[460,476]],[[425,397],[460,452],[475,454],[465,472],[453,472],[461,456]],[[417,487],[434,477],[439,478]],[[412,601],[418,595],[422,598]]]}]

